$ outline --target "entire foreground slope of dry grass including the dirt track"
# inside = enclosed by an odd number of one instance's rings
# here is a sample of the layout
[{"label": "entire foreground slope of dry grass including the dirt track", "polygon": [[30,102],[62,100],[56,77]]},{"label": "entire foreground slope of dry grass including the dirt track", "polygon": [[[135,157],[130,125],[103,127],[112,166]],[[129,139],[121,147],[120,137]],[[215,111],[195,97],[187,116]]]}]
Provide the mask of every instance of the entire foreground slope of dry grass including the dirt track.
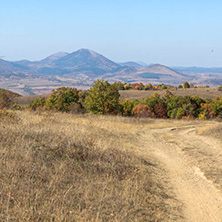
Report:
[{"label": "entire foreground slope of dry grass including the dirt track", "polygon": [[1,219],[220,222],[221,127],[16,112],[0,121]]}]

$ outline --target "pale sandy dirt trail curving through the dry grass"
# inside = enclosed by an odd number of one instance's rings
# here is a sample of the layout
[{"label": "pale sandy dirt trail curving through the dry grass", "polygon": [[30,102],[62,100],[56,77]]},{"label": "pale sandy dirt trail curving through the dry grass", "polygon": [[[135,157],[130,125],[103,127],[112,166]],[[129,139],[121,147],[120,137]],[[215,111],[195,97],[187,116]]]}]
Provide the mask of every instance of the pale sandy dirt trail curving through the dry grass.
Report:
[{"label": "pale sandy dirt trail curving through the dry grass", "polygon": [[[197,157],[186,150],[199,149],[221,158],[218,154],[221,154],[222,146],[195,132],[195,125],[146,130],[144,142],[151,155],[167,170],[176,198],[183,203],[184,220],[221,222],[222,192],[201,171]],[[142,149],[147,152],[145,146]]]}]

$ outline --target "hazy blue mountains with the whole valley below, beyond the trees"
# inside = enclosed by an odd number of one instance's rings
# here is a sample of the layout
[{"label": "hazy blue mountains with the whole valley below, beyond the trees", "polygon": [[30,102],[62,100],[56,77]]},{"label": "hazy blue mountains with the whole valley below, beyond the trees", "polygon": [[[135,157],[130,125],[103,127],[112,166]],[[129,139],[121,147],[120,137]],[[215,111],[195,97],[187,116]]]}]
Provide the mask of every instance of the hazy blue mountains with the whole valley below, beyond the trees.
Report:
[{"label": "hazy blue mountains with the whole valley below, beyond the trees", "polygon": [[[219,68],[215,70],[220,71]],[[146,66],[133,61],[118,64],[89,49],[58,52],[40,61],[10,62],[0,59],[0,87],[23,95],[45,94],[61,86],[85,88],[101,78],[110,82],[167,85],[189,81],[214,87],[222,82],[220,73],[193,73],[161,64]]]}]

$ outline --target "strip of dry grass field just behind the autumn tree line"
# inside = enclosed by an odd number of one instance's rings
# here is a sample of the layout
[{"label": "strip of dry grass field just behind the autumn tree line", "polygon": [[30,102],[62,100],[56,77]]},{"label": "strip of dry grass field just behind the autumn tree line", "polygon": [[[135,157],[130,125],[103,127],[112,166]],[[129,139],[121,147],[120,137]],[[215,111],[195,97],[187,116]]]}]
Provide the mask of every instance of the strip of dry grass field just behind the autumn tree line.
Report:
[{"label": "strip of dry grass field just behind the autumn tree line", "polygon": [[[169,90],[174,95],[178,96],[200,96],[201,98],[215,98],[217,96],[222,96],[222,92],[218,91],[216,88],[192,88],[192,89],[178,89],[178,90]],[[143,99],[147,98],[154,93],[158,93],[159,95],[163,96],[163,94],[166,92],[166,90],[121,90],[120,95],[122,99],[129,99],[129,100],[135,100],[135,99]]]}]

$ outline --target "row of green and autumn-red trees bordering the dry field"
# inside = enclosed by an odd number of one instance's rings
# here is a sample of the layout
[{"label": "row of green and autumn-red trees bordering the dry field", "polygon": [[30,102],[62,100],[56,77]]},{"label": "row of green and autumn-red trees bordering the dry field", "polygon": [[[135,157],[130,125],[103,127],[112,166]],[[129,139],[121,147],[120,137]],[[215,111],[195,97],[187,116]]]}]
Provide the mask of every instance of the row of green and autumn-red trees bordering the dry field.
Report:
[{"label": "row of green and autumn-red trees bordering the dry field", "polygon": [[176,96],[166,90],[163,97],[154,93],[142,100],[122,101],[119,82],[110,84],[97,80],[87,91],[69,87],[53,90],[49,98],[40,97],[32,101],[29,109],[165,119],[211,119],[222,118],[222,97]]}]

